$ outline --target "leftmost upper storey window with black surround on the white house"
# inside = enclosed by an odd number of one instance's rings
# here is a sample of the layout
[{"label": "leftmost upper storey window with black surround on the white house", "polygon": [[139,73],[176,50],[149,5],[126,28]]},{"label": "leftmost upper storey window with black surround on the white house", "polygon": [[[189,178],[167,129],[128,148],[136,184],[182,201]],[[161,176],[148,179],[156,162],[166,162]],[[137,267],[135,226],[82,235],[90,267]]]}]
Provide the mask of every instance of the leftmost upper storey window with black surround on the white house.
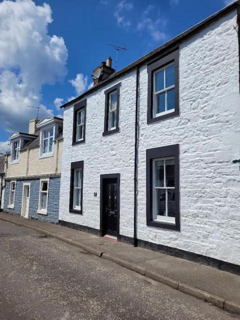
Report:
[{"label": "leftmost upper storey window with black surround on the white house", "polygon": [[76,103],[73,109],[72,144],[85,141],[86,99]]}]

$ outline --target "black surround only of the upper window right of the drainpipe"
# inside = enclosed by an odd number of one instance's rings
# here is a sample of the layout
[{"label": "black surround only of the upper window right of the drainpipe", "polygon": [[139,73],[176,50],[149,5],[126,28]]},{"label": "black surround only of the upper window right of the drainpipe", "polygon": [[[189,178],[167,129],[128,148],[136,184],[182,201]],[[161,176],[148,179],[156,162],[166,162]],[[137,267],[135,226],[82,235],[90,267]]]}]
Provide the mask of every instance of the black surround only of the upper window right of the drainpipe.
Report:
[{"label": "black surround only of the upper window right of the drainpipe", "polygon": [[[174,62],[175,66],[175,106],[174,111],[153,117],[153,73],[158,69]],[[151,62],[147,65],[147,123],[152,123],[179,115],[179,49]]]}]

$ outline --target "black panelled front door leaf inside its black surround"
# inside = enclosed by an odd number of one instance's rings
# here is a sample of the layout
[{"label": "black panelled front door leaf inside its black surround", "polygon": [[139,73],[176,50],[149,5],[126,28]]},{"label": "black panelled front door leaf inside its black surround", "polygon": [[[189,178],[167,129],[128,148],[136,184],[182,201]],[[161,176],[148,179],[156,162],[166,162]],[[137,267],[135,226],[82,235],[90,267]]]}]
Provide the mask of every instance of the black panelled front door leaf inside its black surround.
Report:
[{"label": "black panelled front door leaf inside its black surround", "polygon": [[107,183],[104,190],[104,233],[117,235],[117,187],[116,183]]}]

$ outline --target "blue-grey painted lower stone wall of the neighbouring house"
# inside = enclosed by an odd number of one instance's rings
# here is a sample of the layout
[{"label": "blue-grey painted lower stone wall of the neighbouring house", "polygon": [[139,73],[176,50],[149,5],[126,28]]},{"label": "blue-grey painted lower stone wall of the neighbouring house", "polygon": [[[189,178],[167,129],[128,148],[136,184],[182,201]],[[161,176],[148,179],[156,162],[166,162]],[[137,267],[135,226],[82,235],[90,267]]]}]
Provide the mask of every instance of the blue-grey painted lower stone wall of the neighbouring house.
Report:
[{"label": "blue-grey painted lower stone wall of the neighbouring house", "polygon": [[3,211],[13,213],[13,214],[18,214],[18,215],[21,214],[22,186],[24,182],[31,183],[28,217],[34,218],[40,221],[57,223],[58,211],[59,211],[60,177],[54,177],[49,179],[47,215],[37,213],[40,179],[16,180],[16,191],[15,191],[15,200],[14,200],[13,209],[10,209],[7,207],[8,198],[9,198],[10,181],[5,181],[6,184],[5,184]]}]

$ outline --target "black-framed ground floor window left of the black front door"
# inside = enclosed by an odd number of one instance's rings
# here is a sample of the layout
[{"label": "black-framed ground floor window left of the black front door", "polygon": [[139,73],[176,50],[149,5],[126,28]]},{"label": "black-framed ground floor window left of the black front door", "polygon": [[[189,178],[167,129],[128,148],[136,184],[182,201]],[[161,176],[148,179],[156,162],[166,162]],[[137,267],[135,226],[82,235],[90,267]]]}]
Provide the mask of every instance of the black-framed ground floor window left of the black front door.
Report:
[{"label": "black-framed ground floor window left of the black front door", "polygon": [[82,214],[83,161],[71,163],[69,211]]}]

